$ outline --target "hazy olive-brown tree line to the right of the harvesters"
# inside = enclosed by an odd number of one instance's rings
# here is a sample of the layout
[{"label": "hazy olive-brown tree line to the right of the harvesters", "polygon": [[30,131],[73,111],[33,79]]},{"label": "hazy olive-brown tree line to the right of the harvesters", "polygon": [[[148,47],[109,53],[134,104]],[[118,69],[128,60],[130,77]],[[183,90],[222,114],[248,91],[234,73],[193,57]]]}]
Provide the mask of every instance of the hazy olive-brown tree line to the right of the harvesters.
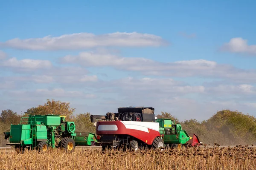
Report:
[{"label": "hazy olive-brown tree line to the right of the harvesters", "polygon": [[172,119],[180,123],[190,136],[195,133],[205,144],[236,145],[254,144],[256,141],[256,118],[239,111],[222,110],[202,122],[196,119],[179,121],[170,113],[162,112],[158,118]]}]

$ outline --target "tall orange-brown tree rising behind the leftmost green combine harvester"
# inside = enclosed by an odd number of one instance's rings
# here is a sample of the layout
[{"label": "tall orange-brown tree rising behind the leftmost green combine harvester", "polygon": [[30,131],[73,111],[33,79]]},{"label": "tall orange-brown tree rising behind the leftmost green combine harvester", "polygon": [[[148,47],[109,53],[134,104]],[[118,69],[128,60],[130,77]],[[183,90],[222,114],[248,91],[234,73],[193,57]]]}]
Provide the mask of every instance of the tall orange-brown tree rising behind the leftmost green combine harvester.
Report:
[{"label": "tall orange-brown tree rising behind the leftmost green combine harvester", "polygon": [[44,105],[38,105],[35,108],[29,108],[27,114],[32,115],[46,115],[46,114],[58,114],[67,116],[66,120],[72,120],[73,112],[75,108],[70,108],[70,102],[55,101],[54,99],[47,99],[47,103]]}]

